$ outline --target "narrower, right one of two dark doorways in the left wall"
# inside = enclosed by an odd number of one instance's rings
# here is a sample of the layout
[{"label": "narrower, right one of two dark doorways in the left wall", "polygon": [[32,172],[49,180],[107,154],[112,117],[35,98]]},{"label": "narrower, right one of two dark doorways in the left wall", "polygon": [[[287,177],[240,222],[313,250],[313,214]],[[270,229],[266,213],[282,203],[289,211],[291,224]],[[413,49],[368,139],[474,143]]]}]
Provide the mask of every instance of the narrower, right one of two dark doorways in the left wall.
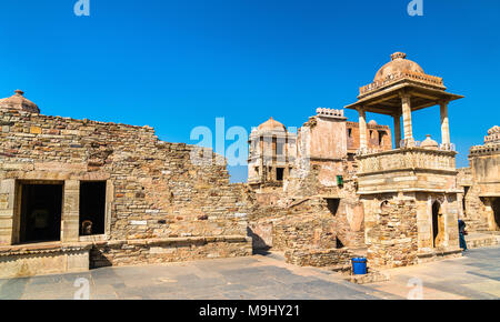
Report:
[{"label": "narrower, right one of two dark doorways in the left wall", "polygon": [[80,182],[80,235],[103,234],[106,181]]}]

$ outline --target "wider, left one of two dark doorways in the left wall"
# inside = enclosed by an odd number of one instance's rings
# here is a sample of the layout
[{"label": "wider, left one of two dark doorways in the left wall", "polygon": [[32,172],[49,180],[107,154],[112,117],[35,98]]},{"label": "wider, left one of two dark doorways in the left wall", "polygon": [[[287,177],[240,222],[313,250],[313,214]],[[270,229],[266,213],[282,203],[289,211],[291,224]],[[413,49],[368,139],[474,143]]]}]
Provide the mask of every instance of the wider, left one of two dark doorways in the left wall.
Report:
[{"label": "wider, left one of two dark doorways in the left wall", "polygon": [[62,187],[21,183],[21,243],[61,240]]}]

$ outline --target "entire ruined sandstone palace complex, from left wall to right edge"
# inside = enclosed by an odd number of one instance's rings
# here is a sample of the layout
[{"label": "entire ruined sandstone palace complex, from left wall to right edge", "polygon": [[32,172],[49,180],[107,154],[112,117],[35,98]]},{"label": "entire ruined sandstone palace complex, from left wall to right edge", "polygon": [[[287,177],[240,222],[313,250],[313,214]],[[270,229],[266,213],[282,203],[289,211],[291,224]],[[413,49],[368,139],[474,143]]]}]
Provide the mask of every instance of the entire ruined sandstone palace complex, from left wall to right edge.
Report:
[{"label": "entire ruined sandstone palace complex, from left wall to right edge", "polygon": [[[0,278],[269,249],[334,270],[358,255],[373,269],[459,256],[459,218],[500,230],[500,130],[458,170],[448,108],[462,98],[396,52],[343,109],[318,108],[297,131],[262,119],[248,183],[230,184],[210,149],[44,115],[18,90],[0,100]],[[413,111],[431,108],[440,142],[413,138],[426,125]],[[392,131],[368,113],[392,117]]]}]

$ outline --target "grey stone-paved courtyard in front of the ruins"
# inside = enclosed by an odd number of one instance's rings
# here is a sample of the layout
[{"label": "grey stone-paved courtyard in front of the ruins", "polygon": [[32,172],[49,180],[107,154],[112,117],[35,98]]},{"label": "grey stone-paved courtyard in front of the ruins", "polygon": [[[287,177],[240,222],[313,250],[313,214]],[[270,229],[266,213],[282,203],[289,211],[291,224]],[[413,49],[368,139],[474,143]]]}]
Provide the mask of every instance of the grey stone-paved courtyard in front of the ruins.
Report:
[{"label": "grey stone-paved courtyard in front of the ruins", "polygon": [[[357,285],[321,269],[286,264],[280,254],[162,265],[102,268],[87,273],[0,280],[0,299],[406,299],[409,279],[424,299],[499,299],[500,246],[460,259],[389,270],[388,282]],[[76,283],[77,282],[77,283]],[[83,292],[82,292],[83,291]]]}]

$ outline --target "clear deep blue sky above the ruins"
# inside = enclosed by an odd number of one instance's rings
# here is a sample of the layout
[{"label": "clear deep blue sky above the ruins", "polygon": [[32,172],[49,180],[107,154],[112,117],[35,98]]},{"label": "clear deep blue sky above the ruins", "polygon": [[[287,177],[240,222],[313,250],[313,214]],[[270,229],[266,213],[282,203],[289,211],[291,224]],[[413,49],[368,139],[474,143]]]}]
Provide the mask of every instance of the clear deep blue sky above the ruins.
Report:
[{"label": "clear deep blue sky above the ruins", "polygon": [[[300,127],[318,107],[354,102],[404,51],[466,95],[449,110],[458,167],[500,124],[497,0],[423,0],[423,17],[408,16],[410,0],[90,0],[90,17],[76,17],[76,2],[1,1],[0,97],[19,88],[44,114],[149,124],[196,143],[191,129],[217,117]],[[439,129],[438,107],[414,113],[417,140]]]}]

